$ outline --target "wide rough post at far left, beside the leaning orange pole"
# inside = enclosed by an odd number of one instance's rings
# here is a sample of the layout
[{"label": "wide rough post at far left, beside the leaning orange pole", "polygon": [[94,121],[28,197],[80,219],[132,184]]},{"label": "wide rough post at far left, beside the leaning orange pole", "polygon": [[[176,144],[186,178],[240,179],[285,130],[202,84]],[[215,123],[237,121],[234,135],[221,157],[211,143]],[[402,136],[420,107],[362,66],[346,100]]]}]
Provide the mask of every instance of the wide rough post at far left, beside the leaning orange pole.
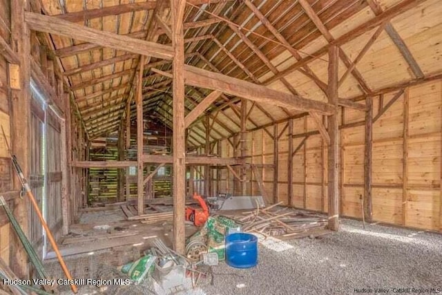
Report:
[{"label": "wide rough post at far left, beside the leaning orange pole", "polygon": [[[11,90],[10,97],[10,136],[12,153],[23,170],[23,175],[29,175],[30,169],[30,31],[24,20],[24,12],[28,10],[27,1],[11,1],[11,39],[13,49],[17,51],[20,59],[20,90]],[[15,175],[15,173],[14,173]],[[19,178],[14,177],[14,189],[21,190]],[[14,216],[21,228],[29,235],[28,217],[30,216],[28,198],[14,200]],[[16,235],[12,236],[12,255],[10,265],[12,271],[19,278],[28,277],[27,256]]]}]

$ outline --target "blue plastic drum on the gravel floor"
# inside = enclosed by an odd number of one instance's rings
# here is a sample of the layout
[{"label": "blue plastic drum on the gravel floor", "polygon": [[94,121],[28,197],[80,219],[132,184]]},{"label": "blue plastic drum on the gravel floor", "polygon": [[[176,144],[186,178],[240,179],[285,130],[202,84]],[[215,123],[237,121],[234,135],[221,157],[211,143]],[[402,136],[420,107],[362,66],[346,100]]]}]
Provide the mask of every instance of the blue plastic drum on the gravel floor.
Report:
[{"label": "blue plastic drum on the gravel floor", "polygon": [[235,233],[226,238],[226,263],[231,267],[249,268],[258,264],[258,238]]}]

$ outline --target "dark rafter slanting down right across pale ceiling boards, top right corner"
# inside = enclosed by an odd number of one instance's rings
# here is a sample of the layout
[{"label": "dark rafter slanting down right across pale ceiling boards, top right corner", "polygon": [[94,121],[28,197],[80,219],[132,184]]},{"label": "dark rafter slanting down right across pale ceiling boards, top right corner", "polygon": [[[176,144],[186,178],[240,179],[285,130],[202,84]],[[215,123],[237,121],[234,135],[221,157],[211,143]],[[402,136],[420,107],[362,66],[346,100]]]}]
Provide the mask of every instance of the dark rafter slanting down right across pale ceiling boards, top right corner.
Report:
[{"label": "dark rafter slanting down right across pale ceiling boards, top right corner", "polygon": [[[367,0],[367,3],[370,8],[372,8],[374,15],[381,15],[383,9],[376,0]],[[414,76],[416,76],[416,78],[423,78],[424,75],[421,68],[419,67],[419,64],[417,63],[416,59],[414,59],[412,53],[410,52],[410,49],[408,49],[407,45],[398,34],[396,29],[393,27],[392,23],[386,23],[385,32],[387,32],[387,34],[390,36],[393,43],[396,45],[399,52],[407,62],[408,66],[410,66],[410,69],[412,70]]]}]

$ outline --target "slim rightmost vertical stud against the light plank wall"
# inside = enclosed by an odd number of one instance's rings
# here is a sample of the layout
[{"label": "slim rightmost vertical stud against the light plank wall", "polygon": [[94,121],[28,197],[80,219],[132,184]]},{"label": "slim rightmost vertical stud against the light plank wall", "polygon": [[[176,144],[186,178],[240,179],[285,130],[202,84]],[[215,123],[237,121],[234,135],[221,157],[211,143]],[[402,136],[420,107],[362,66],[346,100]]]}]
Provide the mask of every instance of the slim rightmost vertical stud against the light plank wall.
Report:
[{"label": "slim rightmost vertical stud against the light plank wall", "polygon": [[408,213],[408,125],[410,116],[410,88],[403,93],[403,187],[402,187],[402,224],[407,226]]}]

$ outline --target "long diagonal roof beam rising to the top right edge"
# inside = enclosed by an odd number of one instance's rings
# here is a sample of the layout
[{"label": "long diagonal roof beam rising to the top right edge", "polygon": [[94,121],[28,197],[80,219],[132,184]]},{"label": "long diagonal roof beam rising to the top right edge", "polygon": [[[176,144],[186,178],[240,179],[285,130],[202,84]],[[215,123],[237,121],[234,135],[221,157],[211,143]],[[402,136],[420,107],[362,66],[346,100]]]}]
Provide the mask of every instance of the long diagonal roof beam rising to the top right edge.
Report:
[{"label": "long diagonal roof beam rising to the top right edge", "polygon": [[[265,81],[265,85],[271,84],[275,81],[277,81],[280,77],[285,77],[291,73],[293,73],[295,70],[298,70],[298,68],[301,68],[302,66],[305,66],[306,64],[309,64],[311,61],[314,61],[318,59],[319,57],[322,57],[325,55],[329,48],[332,46],[341,46],[348,41],[351,41],[353,39],[356,39],[356,37],[359,37],[363,35],[365,32],[368,32],[369,30],[372,30],[378,26],[381,25],[384,21],[388,21],[394,17],[397,17],[398,15],[403,14],[404,12],[407,12],[408,10],[418,6],[419,4],[425,2],[426,0],[403,0],[400,3],[396,4],[395,6],[392,6],[385,10],[383,13],[378,15],[377,17],[374,17],[373,19],[370,19],[369,21],[362,23],[361,25],[357,26],[353,30],[350,30],[349,32],[346,32],[344,35],[338,37],[331,43],[327,44],[326,46],[323,46],[323,48],[320,48],[319,50],[316,50],[315,53],[311,53],[308,57],[305,57],[301,59],[300,61],[296,62],[296,64],[293,64],[292,66],[289,66],[289,68],[282,70],[278,75],[275,75],[273,77],[270,77]],[[369,95],[372,95],[372,93],[369,93]]]}]

